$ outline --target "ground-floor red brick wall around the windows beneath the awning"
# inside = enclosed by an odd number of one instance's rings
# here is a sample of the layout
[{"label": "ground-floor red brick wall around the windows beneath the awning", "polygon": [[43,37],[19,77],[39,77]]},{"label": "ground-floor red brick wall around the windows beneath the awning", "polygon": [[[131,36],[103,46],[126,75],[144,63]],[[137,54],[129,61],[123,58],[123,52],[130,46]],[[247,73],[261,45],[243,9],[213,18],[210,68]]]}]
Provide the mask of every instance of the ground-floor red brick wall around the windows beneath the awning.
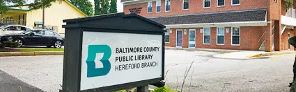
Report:
[{"label": "ground-floor red brick wall around the windows beneath the awning", "polygon": [[[229,29],[229,33],[226,33],[226,28]],[[182,30],[182,47],[188,48],[188,33],[189,29],[196,30],[196,48],[218,48],[218,49],[233,49],[233,50],[258,50],[263,40],[258,42],[261,35],[264,33],[263,27],[240,27],[240,46],[231,45],[231,27],[226,27],[224,30],[224,45],[217,45],[217,28],[210,28],[210,44],[203,44],[203,33],[200,33],[200,29],[203,28],[173,28],[170,34],[170,43],[166,43],[166,46],[176,47],[176,30]],[[187,34],[184,35],[184,29],[187,29]],[[264,37],[263,37],[264,38]]]}]

